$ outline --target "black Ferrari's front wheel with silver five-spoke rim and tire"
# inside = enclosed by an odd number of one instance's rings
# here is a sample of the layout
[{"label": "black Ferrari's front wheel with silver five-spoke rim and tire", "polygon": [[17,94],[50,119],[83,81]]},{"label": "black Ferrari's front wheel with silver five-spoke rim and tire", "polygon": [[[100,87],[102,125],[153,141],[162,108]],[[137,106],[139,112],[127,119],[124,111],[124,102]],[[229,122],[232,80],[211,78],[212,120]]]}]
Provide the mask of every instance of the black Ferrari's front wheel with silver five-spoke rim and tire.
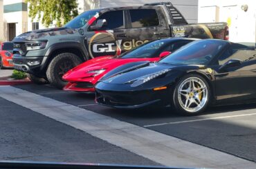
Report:
[{"label": "black Ferrari's front wheel with silver five-spoke rim and tire", "polygon": [[[191,88],[193,90],[190,90]],[[210,98],[211,89],[208,82],[199,74],[188,74],[178,81],[172,106],[181,115],[199,115],[208,107]]]}]

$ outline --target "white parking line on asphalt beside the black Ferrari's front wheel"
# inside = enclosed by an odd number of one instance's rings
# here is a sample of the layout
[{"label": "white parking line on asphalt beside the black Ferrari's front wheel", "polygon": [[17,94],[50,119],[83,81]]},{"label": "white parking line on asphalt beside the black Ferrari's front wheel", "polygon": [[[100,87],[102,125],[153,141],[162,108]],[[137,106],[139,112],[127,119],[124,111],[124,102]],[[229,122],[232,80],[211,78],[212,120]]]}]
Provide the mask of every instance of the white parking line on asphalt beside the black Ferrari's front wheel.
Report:
[{"label": "white parking line on asphalt beside the black Ferrari's front wheel", "polygon": [[228,118],[234,118],[234,117],[244,117],[244,116],[253,116],[253,115],[256,115],[256,112],[255,112],[255,113],[249,113],[249,114],[243,114],[243,115],[210,117],[210,118],[205,118],[205,119],[185,120],[185,121],[174,121],[174,122],[169,122],[169,123],[156,123],[156,124],[145,125],[145,126],[143,126],[143,127],[149,128],[149,127],[154,127],[154,126],[165,126],[165,125],[169,125],[169,124],[192,123],[192,122],[196,122],[196,121],[206,121],[206,120],[214,120],[214,119],[228,119]]}]

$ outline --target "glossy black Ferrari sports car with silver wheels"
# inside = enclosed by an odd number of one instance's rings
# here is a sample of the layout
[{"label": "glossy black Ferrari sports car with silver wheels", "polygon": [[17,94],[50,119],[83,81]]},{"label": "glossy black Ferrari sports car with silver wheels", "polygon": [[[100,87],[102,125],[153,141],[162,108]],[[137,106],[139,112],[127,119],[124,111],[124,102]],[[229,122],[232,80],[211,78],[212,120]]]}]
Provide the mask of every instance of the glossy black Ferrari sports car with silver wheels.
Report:
[{"label": "glossy black Ferrari sports car with silver wheels", "polygon": [[96,102],[105,106],[172,106],[186,115],[209,105],[255,101],[256,52],[223,40],[194,41],[156,63],[120,66],[95,90]]}]

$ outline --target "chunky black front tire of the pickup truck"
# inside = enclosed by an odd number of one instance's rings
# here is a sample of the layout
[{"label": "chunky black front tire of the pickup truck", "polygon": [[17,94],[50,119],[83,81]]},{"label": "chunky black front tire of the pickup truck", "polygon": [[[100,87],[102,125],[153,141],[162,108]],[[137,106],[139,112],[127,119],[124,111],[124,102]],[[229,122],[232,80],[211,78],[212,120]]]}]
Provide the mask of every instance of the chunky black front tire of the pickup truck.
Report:
[{"label": "chunky black front tire of the pickup truck", "polygon": [[66,86],[66,81],[62,79],[62,76],[71,68],[82,63],[79,57],[73,53],[61,53],[58,54],[51,63],[48,65],[46,70],[46,77],[51,85],[56,88],[64,88]]}]

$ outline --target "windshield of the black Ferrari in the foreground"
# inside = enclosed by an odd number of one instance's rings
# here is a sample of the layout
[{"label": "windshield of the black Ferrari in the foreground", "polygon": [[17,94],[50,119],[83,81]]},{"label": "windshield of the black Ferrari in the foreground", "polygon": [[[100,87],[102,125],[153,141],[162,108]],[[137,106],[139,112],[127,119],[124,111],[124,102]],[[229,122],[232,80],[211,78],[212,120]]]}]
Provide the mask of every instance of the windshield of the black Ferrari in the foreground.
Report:
[{"label": "windshield of the black Ferrari in the foreground", "polygon": [[194,41],[161,59],[159,63],[174,65],[207,65],[228,42],[215,40]]}]

